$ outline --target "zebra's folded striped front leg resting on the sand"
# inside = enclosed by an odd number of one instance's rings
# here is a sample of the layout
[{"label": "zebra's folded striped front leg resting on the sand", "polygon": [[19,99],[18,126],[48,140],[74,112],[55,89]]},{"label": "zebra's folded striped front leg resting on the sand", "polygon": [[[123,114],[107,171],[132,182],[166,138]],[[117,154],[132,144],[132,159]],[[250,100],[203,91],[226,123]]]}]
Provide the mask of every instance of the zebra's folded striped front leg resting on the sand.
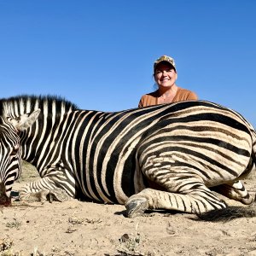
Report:
[{"label": "zebra's folded striped front leg resting on the sand", "polygon": [[61,183],[53,178],[43,177],[20,189],[20,201],[68,201],[74,195],[68,195]]}]

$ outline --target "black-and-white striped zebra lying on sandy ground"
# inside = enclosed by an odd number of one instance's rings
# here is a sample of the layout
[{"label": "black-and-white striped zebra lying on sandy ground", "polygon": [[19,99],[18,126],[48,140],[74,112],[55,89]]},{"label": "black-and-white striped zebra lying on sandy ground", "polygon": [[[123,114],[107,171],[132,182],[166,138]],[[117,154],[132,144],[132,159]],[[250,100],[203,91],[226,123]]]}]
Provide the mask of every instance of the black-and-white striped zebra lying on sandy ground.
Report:
[{"label": "black-and-white striped zebra lying on sandy ground", "polygon": [[241,179],[252,172],[256,132],[240,113],[207,101],[119,112],[81,110],[57,96],[0,100],[0,182],[10,197],[21,160],[40,178],[23,201],[125,205],[134,218],[165,209],[203,214],[227,208],[217,190],[253,202]]}]

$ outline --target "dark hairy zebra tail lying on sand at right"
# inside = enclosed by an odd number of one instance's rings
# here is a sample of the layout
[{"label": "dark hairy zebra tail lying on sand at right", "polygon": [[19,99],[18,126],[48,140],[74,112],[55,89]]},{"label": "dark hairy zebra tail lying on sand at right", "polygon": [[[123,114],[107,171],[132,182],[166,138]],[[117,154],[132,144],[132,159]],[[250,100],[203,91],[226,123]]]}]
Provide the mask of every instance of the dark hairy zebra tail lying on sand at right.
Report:
[{"label": "dark hairy zebra tail lying on sand at right", "polygon": [[224,209],[197,213],[196,215],[200,220],[210,222],[229,222],[236,218],[253,218],[256,217],[256,203],[253,203],[249,207],[227,206]]}]

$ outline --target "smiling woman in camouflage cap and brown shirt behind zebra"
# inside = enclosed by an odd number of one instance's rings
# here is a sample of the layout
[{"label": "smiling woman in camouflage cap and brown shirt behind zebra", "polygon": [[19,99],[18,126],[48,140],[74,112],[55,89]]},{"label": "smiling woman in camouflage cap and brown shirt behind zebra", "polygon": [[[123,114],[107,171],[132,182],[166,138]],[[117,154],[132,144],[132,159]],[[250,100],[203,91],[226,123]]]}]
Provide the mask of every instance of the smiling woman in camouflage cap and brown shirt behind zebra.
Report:
[{"label": "smiling woman in camouflage cap and brown shirt behind zebra", "polygon": [[170,56],[160,56],[159,59],[154,61],[154,81],[158,90],[143,95],[138,107],[198,99],[195,92],[178,87],[176,80],[175,61]]}]

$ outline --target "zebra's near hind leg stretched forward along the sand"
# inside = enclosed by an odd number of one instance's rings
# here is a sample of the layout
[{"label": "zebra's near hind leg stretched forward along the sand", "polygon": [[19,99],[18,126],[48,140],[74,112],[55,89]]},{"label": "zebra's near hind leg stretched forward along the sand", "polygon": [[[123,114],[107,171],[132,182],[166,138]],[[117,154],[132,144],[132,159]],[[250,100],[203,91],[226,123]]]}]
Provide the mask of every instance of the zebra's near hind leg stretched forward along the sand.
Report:
[{"label": "zebra's near hind leg stretched forward along the sand", "polygon": [[[177,181],[176,181],[177,183]],[[125,202],[128,218],[143,214],[147,209],[177,210],[200,214],[226,207],[210,189],[203,183],[195,181],[179,183],[178,190],[160,191],[156,189],[143,189],[136,195],[131,195]]]}]

